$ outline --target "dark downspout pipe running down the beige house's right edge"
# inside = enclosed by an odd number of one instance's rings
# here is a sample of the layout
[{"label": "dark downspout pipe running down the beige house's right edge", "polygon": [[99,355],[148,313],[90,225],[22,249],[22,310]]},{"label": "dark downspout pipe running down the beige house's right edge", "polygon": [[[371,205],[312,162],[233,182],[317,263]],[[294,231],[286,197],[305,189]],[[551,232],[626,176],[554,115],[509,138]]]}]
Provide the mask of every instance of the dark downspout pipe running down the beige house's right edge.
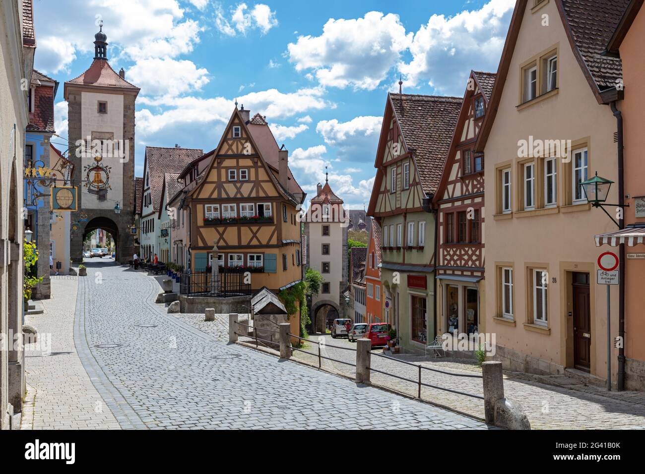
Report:
[{"label": "dark downspout pipe running down the beige house's right edge", "polygon": [[[613,116],[616,117],[616,128],[618,134],[618,203],[620,206],[625,204],[625,180],[624,180],[624,144],[623,144],[623,124],[622,124],[622,114],[616,106],[616,101],[610,103],[611,112]],[[618,220],[618,226],[620,229],[625,228],[625,217],[624,217],[624,207],[620,208],[620,219]],[[618,268],[619,272],[619,306],[618,306],[618,335],[622,344],[620,344],[618,350],[618,381],[617,381],[617,390],[625,390],[625,244],[620,244],[619,246],[619,259],[620,266]]]}]

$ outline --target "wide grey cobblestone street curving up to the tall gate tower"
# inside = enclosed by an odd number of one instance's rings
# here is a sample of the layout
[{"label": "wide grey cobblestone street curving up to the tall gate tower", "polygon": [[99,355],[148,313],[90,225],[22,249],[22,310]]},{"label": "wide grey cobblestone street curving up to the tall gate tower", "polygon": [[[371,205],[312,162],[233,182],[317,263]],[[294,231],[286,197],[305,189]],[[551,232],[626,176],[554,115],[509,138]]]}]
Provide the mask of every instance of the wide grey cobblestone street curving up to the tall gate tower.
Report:
[{"label": "wide grey cobblestone street curving up to the tall gate tower", "polygon": [[[226,344],[222,316],[200,330],[203,315],[175,317],[154,303],[160,288],[152,277],[107,261],[87,266],[88,276],[79,279],[75,342],[121,428],[488,428]],[[62,377],[57,382],[66,384]],[[372,407],[370,415],[357,413],[356,404]]]}]

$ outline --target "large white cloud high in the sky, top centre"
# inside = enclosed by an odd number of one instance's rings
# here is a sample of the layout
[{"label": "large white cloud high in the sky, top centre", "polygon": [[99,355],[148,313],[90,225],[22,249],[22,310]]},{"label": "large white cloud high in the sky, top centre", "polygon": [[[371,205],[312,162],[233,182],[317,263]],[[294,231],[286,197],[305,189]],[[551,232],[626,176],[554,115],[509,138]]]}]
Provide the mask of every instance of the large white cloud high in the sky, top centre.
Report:
[{"label": "large white cloud high in the sky, top centre", "polygon": [[300,36],[287,48],[296,70],[313,70],[325,86],[373,90],[411,41],[398,15],[369,12],[359,19],[329,19],[323,34]]}]

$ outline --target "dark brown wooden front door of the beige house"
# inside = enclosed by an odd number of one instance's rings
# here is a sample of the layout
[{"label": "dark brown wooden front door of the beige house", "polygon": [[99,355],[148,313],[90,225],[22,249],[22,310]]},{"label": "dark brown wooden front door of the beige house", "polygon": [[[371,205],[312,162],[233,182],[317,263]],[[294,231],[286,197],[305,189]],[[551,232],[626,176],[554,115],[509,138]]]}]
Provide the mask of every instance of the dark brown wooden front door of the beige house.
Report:
[{"label": "dark brown wooden front door of the beige house", "polygon": [[578,370],[590,371],[591,367],[591,312],[589,306],[589,283],[584,277],[573,276],[573,366]]}]

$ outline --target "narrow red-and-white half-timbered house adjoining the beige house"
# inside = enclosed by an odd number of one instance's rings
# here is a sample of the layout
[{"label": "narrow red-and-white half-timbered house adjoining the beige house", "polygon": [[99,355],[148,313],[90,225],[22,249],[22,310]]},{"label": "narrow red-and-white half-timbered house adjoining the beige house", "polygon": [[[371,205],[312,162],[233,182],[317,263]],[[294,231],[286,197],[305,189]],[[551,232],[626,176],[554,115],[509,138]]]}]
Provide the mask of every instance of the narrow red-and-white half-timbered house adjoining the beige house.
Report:
[{"label": "narrow red-and-white half-timbered house adjoining the beige house", "polygon": [[437,329],[482,331],[484,318],[484,155],[474,153],[495,74],[470,72],[450,152],[433,199],[437,209]]}]

